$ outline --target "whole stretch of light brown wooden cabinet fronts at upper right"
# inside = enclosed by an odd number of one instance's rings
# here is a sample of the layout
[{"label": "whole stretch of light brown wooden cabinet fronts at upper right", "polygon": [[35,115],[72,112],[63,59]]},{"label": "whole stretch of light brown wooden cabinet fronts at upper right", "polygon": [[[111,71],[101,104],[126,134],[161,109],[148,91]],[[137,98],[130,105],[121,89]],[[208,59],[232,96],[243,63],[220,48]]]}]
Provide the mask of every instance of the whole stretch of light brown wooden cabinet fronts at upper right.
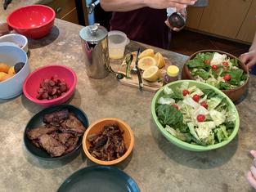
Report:
[{"label": "whole stretch of light brown wooden cabinet fronts at upper right", "polygon": [[236,41],[252,42],[256,0],[209,0],[208,7],[188,7],[186,27]]}]

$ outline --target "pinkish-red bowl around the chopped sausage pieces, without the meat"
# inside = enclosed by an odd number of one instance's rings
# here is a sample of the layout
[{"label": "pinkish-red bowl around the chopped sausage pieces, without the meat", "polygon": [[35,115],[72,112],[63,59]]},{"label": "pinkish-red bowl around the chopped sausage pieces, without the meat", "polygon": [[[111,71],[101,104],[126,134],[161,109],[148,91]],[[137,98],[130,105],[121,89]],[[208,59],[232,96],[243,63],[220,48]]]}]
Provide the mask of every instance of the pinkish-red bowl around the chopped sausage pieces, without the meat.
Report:
[{"label": "pinkish-red bowl around the chopped sausage pieces, without the meat", "polygon": [[[40,83],[42,83],[43,79],[52,78],[55,75],[57,78],[63,79],[65,83],[67,83],[69,91],[65,92],[63,96],[53,100],[38,100],[37,95]],[[29,74],[29,76],[25,79],[25,83],[23,84],[23,93],[29,100],[39,105],[50,106],[62,104],[69,100],[73,95],[76,83],[76,74],[69,67],[65,65],[46,65],[34,70],[31,74]]]}]

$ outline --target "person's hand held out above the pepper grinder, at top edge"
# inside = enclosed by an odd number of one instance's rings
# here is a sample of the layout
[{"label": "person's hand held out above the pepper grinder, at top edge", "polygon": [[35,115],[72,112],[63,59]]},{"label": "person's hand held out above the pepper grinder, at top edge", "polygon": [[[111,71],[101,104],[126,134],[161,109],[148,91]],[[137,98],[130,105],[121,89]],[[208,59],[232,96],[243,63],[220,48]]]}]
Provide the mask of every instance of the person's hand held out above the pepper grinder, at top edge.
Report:
[{"label": "person's hand held out above the pepper grinder, at top edge", "polygon": [[177,11],[194,5],[197,0],[144,0],[146,7],[154,9],[166,9],[167,7],[176,7]]}]

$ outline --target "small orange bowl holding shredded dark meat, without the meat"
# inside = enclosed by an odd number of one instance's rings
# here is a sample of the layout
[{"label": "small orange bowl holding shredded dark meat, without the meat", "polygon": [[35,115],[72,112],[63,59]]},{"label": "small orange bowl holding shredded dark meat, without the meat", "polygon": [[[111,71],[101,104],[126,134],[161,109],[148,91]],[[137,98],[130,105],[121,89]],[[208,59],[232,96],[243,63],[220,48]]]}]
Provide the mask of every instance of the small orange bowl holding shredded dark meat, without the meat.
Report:
[{"label": "small orange bowl holding shredded dark meat, without the meat", "polygon": [[[103,129],[105,125],[117,123],[119,126],[119,129],[121,131],[124,131],[124,144],[126,146],[127,151],[123,156],[121,156],[119,159],[115,159],[112,161],[102,161],[100,159],[94,158],[88,151],[90,145],[90,142],[88,141],[88,136],[99,133]],[[96,122],[92,123],[86,132],[83,135],[83,151],[88,156],[88,159],[90,159],[92,162],[101,164],[101,165],[114,165],[116,163],[122,162],[124,159],[128,157],[129,154],[131,154],[132,149],[134,145],[134,136],[131,127],[128,126],[127,123],[124,123],[124,121],[120,120],[119,118],[101,118],[97,120]]]}]

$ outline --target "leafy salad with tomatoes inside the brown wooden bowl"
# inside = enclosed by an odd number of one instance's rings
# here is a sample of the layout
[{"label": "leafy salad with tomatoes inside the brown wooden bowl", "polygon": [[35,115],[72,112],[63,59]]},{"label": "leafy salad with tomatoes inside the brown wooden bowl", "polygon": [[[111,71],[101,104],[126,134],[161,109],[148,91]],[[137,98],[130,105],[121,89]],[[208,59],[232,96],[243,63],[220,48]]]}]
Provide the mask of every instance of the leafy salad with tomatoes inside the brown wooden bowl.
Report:
[{"label": "leafy salad with tomatoes inside the brown wooden bowl", "polygon": [[238,60],[218,52],[198,53],[186,63],[192,77],[221,90],[243,85],[248,75],[239,68]]}]

